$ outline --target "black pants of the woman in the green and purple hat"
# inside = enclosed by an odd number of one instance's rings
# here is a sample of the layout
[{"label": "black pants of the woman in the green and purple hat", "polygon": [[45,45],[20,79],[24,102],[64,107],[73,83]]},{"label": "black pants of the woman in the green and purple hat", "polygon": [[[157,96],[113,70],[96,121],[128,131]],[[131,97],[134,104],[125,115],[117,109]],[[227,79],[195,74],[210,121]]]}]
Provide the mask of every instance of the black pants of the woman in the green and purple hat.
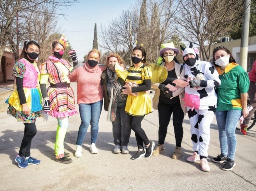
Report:
[{"label": "black pants of the woman in the green and purple hat", "polygon": [[[173,115],[172,115],[173,114]],[[176,140],[176,146],[180,147],[183,138],[183,119],[184,113],[180,106],[180,102],[176,104],[164,104],[161,101],[158,103],[158,143],[164,144],[167,134],[167,127],[169,125],[172,115],[174,135]]]}]

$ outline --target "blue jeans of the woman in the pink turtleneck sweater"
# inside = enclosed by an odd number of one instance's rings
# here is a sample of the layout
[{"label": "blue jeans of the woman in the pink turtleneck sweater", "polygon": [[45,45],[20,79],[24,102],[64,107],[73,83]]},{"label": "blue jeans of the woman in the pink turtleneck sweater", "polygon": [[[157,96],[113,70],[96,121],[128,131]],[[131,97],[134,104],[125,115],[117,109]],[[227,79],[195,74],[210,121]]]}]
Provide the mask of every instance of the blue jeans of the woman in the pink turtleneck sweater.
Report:
[{"label": "blue jeans of the woman in the pink turtleneck sweater", "polygon": [[91,144],[96,143],[96,139],[99,131],[99,119],[102,110],[103,100],[90,103],[90,104],[78,104],[79,113],[81,118],[81,125],[79,127],[76,145],[82,145],[84,136],[87,132],[89,125],[91,124]]}]

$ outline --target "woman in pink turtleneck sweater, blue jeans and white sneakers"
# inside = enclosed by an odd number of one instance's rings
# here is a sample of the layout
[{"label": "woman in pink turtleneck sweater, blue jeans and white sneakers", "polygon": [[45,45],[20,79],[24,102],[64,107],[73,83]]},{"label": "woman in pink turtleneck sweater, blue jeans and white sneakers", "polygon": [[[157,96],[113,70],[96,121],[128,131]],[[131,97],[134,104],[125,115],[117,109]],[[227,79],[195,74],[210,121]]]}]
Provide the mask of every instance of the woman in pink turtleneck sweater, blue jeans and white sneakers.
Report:
[{"label": "woman in pink turtleneck sweater, blue jeans and white sneakers", "polygon": [[99,59],[99,50],[92,49],[87,55],[87,62],[74,67],[69,76],[71,82],[77,82],[77,103],[81,118],[75,157],[82,156],[82,143],[90,124],[90,151],[92,154],[98,153],[95,142],[98,136],[99,118],[103,104],[103,88],[100,76],[104,70],[104,67],[98,64]]}]

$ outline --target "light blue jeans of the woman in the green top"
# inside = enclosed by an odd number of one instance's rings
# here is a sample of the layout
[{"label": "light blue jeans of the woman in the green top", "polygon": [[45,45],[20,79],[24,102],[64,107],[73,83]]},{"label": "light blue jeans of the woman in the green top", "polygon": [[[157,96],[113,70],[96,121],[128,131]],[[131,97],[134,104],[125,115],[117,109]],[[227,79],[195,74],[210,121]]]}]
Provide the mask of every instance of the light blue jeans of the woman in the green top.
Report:
[{"label": "light blue jeans of the woman in the green top", "polygon": [[235,160],[236,151],[236,126],[241,116],[240,110],[216,111],[219,128],[221,154],[230,160]]}]

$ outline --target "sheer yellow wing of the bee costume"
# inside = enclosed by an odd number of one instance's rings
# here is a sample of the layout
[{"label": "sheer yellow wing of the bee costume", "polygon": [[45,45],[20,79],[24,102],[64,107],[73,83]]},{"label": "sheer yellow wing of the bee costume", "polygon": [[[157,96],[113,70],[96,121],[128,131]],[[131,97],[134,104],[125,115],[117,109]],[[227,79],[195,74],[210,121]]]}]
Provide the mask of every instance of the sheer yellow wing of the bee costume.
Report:
[{"label": "sheer yellow wing of the bee costume", "polygon": [[154,63],[150,63],[148,66],[152,70],[151,81],[153,83],[162,83],[166,80],[168,76],[168,71],[164,66],[154,64]]}]

